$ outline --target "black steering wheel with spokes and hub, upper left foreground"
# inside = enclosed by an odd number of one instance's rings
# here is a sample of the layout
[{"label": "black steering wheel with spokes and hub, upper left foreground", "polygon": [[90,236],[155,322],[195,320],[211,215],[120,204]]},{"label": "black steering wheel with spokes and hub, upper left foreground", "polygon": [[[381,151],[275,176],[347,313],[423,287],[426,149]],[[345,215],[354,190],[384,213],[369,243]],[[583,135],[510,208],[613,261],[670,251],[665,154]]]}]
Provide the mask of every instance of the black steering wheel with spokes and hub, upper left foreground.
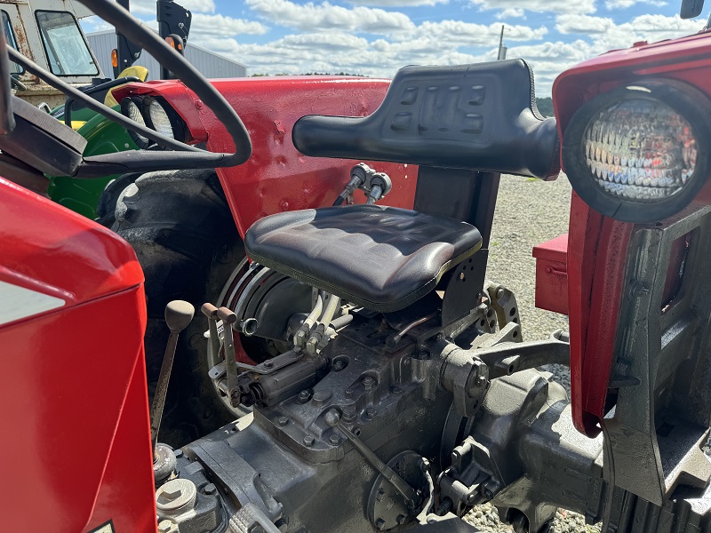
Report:
[{"label": "black steering wheel with spokes and hub, upper left foreground", "polygon": [[[0,32],[0,172],[12,176],[51,175],[75,178],[95,178],[111,174],[182,170],[236,166],[252,155],[252,141],[244,123],[228,101],[216,91],[196,68],[180,53],[165,43],[140,20],[112,0],[79,0],[92,12],[107,20],[132,42],[148,50],[165,68],[171,70],[204,105],[224,124],[235,143],[232,154],[216,153],[193,147],[166,137],[145,125],[132,121],[91,96],[63,82],[58,76],[38,67],[12,47],[7,46],[4,32]],[[91,5],[90,5],[91,4]],[[84,157],[86,141],[76,131],[43,111],[12,96],[10,59],[30,74],[43,79],[55,89],[82,101],[86,107],[120,123],[127,130],[156,142],[171,151],[136,150],[116,154]],[[40,147],[37,149],[37,147]]]}]

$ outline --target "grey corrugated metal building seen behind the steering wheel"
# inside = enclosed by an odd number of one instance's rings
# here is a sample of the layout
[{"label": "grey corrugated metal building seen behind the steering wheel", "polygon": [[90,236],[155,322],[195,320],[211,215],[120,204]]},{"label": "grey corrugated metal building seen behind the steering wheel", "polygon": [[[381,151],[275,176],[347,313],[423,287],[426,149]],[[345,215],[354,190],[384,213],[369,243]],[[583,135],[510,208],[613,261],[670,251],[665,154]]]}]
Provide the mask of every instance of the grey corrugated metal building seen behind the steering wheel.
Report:
[{"label": "grey corrugated metal building seen behind the steering wheel", "polygon": [[[111,76],[111,51],[116,48],[116,32],[112,29],[87,34],[87,40],[92,47],[94,56],[99,60],[104,76]],[[247,68],[237,61],[229,60],[215,52],[196,46],[188,39],[185,47],[185,57],[206,78],[230,78],[247,76]],[[148,68],[148,79],[155,80],[160,77],[160,66],[145,50],[140,54],[136,65]]]}]

